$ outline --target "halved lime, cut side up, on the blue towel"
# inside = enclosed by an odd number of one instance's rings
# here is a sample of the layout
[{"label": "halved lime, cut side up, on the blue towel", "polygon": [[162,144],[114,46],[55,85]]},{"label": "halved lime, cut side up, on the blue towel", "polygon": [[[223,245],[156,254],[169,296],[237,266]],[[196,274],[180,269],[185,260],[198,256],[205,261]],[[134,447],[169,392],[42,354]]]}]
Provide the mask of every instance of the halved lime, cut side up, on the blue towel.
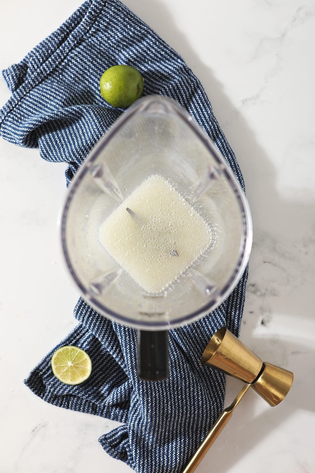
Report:
[{"label": "halved lime, cut side up, on the blue towel", "polygon": [[62,383],[77,385],[90,376],[92,361],[86,351],[67,345],[54,352],[51,368],[55,377]]}]

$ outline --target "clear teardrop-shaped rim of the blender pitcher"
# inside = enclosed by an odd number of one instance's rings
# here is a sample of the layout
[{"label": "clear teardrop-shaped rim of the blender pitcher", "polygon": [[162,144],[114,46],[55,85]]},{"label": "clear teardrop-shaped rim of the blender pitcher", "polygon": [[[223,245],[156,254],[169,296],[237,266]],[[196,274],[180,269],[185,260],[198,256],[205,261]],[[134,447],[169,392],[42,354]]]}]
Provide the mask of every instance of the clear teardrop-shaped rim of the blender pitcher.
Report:
[{"label": "clear teardrop-shaped rim of the blender pitcher", "polygon": [[[228,182],[233,188],[233,191],[237,197],[238,205],[241,210],[242,218],[243,218],[243,233],[242,233],[242,241],[240,242],[239,246],[239,254],[238,254],[238,263],[236,264],[233,273],[231,274],[229,280],[225,284],[225,286],[220,290],[220,294],[217,295],[215,298],[207,301],[202,307],[198,310],[179,317],[174,321],[141,321],[141,323],[137,323],[136,321],[132,321],[128,316],[123,314],[119,314],[117,312],[112,311],[108,307],[105,307],[101,303],[99,303],[93,296],[91,296],[88,292],[87,287],[81,280],[78,278],[75,270],[73,269],[73,265],[70,261],[69,254],[68,254],[68,245],[66,239],[66,216],[68,212],[68,207],[70,205],[72,195],[75,192],[78,182],[80,181],[81,175],[85,175],[86,172],[89,170],[90,165],[95,161],[98,157],[99,153],[102,151],[103,147],[110,141],[116,133],[120,130],[120,128],[124,125],[126,120],[129,120],[134,114],[141,111],[141,108],[145,109],[145,102],[150,101],[162,101],[168,102],[173,111],[179,115],[182,120],[185,120],[187,125],[192,129],[192,131],[197,135],[197,137],[202,140],[204,146],[209,149],[213,155],[213,158],[216,160],[217,163],[222,164],[224,163],[224,167],[222,169],[224,175],[228,179]],[[90,158],[91,154],[93,156]],[[63,260],[66,263],[66,267],[68,273],[71,276],[71,279],[76,283],[77,288],[80,290],[82,298],[90,304],[94,310],[98,313],[103,315],[104,317],[109,317],[113,321],[119,324],[125,324],[129,327],[137,328],[137,329],[145,329],[149,331],[154,330],[166,330],[179,327],[185,324],[191,324],[198,320],[199,318],[203,317],[204,315],[212,312],[215,310],[233,291],[236,287],[241,275],[245,271],[249,254],[251,251],[252,245],[252,219],[250,214],[249,205],[247,203],[247,198],[245,193],[238,183],[238,180],[234,173],[231,171],[230,167],[227,166],[225,158],[221,155],[220,151],[215,147],[213,141],[205,134],[204,130],[198,125],[193,117],[187,113],[174,99],[170,97],[164,96],[145,96],[136,101],[128,110],[122,113],[119,118],[113,123],[111,128],[105,132],[105,134],[97,141],[91,151],[88,153],[85,161],[82,163],[82,166],[78,169],[76,175],[73,177],[66,196],[65,203],[62,207],[60,212],[59,218],[59,225],[60,225],[60,240],[61,240],[61,249],[63,254]]]}]

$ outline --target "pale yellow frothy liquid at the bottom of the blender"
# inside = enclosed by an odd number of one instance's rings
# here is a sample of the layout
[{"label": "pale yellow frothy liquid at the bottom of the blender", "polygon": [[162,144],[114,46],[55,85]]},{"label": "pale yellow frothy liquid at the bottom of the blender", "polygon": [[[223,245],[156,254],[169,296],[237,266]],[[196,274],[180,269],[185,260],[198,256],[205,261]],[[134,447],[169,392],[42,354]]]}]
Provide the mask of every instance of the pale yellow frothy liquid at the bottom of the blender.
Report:
[{"label": "pale yellow frothy liquid at the bottom of the blender", "polygon": [[[139,215],[129,215],[126,208]],[[209,223],[162,175],[150,175],[101,223],[104,249],[147,292],[167,288],[211,245]],[[179,256],[171,256],[176,250]]]}]

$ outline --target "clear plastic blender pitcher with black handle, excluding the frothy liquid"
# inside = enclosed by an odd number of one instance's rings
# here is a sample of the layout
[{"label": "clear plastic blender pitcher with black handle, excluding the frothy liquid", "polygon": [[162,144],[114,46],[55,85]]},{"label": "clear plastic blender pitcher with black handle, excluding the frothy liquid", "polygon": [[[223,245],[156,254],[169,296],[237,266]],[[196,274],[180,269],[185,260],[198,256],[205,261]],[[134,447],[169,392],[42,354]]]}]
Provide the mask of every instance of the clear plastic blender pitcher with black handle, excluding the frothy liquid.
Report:
[{"label": "clear plastic blender pitcher with black handle, excluding the frothy liquid", "polygon": [[[98,237],[102,222],[151,175],[163,176],[213,232],[203,254],[154,293]],[[138,329],[138,375],[160,380],[168,376],[168,329],[208,314],[230,294],[248,261],[252,226],[243,190],[213,142],[175,101],[147,96],[119,117],[77,172],[61,215],[61,241],[82,297],[100,314]]]}]

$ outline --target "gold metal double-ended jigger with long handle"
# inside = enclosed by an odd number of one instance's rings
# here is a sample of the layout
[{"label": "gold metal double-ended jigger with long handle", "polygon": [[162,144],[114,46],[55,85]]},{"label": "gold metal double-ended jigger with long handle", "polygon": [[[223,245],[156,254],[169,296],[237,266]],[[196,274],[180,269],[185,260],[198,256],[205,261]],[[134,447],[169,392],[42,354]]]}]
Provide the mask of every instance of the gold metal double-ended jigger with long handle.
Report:
[{"label": "gold metal double-ended jigger with long handle", "polygon": [[240,390],[231,405],[224,409],[182,473],[192,473],[196,470],[250,387],[274,407],[285,398],[293,383],[291,371],[263,362],[226,327],[221,327],[214,333],[205,347],[201,362],[245,381],[246,385]]}]

